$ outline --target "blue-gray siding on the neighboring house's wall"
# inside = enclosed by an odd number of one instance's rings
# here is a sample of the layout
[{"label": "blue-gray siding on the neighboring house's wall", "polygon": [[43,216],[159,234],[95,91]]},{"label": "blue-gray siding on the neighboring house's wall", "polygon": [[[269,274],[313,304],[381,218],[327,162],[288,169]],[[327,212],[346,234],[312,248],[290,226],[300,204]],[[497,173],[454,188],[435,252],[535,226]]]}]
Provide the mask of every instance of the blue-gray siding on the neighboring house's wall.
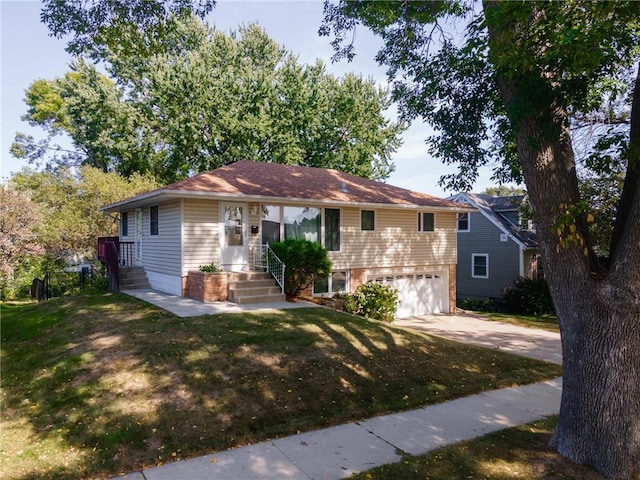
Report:
[{"label": "blue-gray siding on the neighboring house's wall", "polygon": [[[470,214],[470,231],[458,232],[458,298],[497,298],[520,275],[520,247],[511,238],[500,241],[503,233],[481,213]],[[472,277],[472,255],[489,255],[489,278]]]}]

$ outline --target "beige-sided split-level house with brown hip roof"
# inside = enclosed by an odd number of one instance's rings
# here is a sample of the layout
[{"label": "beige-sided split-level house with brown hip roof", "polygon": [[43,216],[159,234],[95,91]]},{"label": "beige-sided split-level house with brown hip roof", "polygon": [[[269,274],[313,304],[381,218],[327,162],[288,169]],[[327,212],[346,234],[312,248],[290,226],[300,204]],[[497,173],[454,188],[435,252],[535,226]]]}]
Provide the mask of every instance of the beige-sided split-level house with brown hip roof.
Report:
[{"label": "beige-sided split-level house with brown hip roof", "polygon": [[455,308],[456,215],[472,211],[336,170],[248,160],[102,210],[120,213],[121,264],[143,267],[154,289],[189,296],[200,265],[260,270],[266,245],[304,238],[333,263],[314,295],[384,283],[400,292],[398,316]]}]

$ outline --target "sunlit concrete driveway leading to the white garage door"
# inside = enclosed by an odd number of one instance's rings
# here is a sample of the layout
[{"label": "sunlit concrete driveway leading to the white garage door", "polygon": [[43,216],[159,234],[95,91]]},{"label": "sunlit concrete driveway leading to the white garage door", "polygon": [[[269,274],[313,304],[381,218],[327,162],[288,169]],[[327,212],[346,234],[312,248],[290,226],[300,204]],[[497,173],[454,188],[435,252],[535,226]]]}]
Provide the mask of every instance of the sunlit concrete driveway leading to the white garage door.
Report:
[{"label": "sunlit concrete driveway leading to the white garage door", "polygon": [[560,334],[484,320],[472,314],[433,314],[396,319],[394,325],[484,348],[562,364]]}]

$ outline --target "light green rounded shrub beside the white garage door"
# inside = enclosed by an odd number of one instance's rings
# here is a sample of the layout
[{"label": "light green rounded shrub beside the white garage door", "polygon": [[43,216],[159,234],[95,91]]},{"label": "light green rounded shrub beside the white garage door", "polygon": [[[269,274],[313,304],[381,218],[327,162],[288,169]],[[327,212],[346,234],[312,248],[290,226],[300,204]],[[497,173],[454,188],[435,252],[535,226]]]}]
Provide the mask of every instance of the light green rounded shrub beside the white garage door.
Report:
[{"label": "light green rounded shrub beside the white garage door", "polygon": [[393,322],[398,308],[398,291],[389,285],[368,282],[345,299],[344,309],[367,318]]}]

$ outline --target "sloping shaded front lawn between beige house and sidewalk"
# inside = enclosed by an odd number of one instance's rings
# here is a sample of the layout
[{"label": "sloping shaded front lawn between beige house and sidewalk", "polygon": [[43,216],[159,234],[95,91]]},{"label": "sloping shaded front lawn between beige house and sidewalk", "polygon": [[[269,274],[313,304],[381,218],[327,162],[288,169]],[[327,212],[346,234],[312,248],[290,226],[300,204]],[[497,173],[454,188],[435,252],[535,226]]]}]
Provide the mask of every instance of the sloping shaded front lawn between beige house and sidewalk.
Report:
[{"label": "sloping shaded front lawn between beige house and sidewalk", "polygon": [[180,319],[101,294],[1,313],[7,480],[113,476],[560,374],[325,309]]}]

